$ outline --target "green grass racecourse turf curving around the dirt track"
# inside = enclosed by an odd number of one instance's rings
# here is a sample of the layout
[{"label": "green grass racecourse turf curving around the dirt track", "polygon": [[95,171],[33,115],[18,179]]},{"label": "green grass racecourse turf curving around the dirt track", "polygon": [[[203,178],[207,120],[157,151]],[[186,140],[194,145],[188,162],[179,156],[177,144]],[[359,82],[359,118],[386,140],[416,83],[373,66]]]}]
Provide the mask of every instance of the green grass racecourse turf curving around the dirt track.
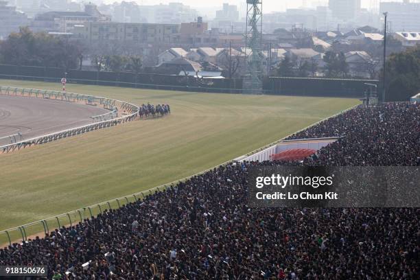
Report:
[{"label": "green grass racecourse turf curving around the dirt track", "polygon": [[[60,90],[60,84],[46,82],[0,84]],[[196,174],[358,104],[75,84],[67,91],[167,103],[172,115],[0,154],[0,230]]]}]

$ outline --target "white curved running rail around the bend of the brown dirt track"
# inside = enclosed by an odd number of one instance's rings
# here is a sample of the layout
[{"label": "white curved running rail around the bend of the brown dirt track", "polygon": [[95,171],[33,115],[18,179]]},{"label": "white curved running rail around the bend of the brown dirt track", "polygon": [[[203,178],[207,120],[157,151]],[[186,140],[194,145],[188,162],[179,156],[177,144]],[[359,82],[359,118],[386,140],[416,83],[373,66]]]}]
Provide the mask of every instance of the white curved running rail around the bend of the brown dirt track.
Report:
[{"label": "white curved running rail around the bend of the brown dirt track", "polygon": [[[105,121],[98,121],[94,124],[86,124],[84,126],[78,126],[75,128],[69,128],[67,130],[61,130],[58,132],[49,133],[47,135],[41,135],[31,139],[25,139],[16,143],[10,143],[8,145],[0,146],[0,151],[2,153],[13,152],[14,150],[20,150],[21,148],[30,147],[32,145],[38,145],[43,143],[48,143],[51,141],[56,141],[58,139],[71,137],[74,135],[80,135],[84,132],[89,132],[92,130],[98,130],[101,128],[108,128],[110,126],[117,126],[118,124],[124,124],[127,121],[134,120],[137,115],[139,115],[139,106],[124,102],[121,100],[114,100],[106,97],[97,97],[93,95],[83,95],[79,93],[67,93],[62,91],[46,91],[43,89],[25,89],[25,88],[16,88],[13,86],[0,86],[0,95],[15,95],[23,97],[37,97],[51,99],[54,97],[54,100],[62,100],[67,102],[80,102],[84,101],[86,104],[93,105],[99,104],[103,105],[104,108],[114,108],[115,104],[119,104],[120,108],[126,110],[128,115],[122,117],[117,117],[115,119],[109,119]],[[96,102],[96,103],[95,103]]]}]

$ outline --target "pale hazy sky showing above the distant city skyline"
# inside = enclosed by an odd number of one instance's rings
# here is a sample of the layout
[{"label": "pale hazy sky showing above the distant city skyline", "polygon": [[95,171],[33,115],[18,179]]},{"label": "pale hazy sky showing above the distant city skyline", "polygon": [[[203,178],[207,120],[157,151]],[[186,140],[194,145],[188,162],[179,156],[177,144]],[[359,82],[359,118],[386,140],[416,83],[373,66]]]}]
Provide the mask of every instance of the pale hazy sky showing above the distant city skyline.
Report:
[{"label": "pale hazy sky showing above the distant city skyline", "polygon": [[[121,0],[105,0],[107,3],[121,2]],[[130,1],[130,0],[126,0]],[[230,3],[231,5],[240,5],[240,3],[246,3],[246,0],[134,0],[137,3],[143,3],[144,5],[158,5],[159,3],[170,3],[180,2],[185,5],[191,5],[196,8],[209,8],[209,7],[222,7],[223,3]],[[362,0],[362,7],[370,8],[371,2],[379,0]],[[263,0],[263,10],[265,12],[281,11],[285,8],[299,8],[303,5],[316,6],[326,5],[328,0]]]}]

